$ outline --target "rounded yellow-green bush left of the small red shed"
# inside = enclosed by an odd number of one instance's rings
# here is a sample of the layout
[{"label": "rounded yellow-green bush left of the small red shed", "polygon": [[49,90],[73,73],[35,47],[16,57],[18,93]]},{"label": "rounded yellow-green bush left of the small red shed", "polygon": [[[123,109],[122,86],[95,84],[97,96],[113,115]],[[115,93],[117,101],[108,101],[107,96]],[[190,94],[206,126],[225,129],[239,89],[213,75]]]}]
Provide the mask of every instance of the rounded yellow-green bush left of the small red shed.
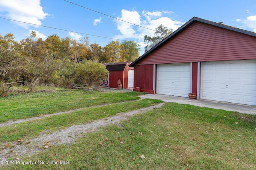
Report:
[{"label": "rounded yellow-green bush left of the small red shed", "polygon": [[76,76],[80,78],[83,83],[87,83],[91,88],[93,88],[95,84],[100,84],[100,79],[106,78],[108,74],[108,70],[104,64],[91,60],[76,64],[74,70]]}]

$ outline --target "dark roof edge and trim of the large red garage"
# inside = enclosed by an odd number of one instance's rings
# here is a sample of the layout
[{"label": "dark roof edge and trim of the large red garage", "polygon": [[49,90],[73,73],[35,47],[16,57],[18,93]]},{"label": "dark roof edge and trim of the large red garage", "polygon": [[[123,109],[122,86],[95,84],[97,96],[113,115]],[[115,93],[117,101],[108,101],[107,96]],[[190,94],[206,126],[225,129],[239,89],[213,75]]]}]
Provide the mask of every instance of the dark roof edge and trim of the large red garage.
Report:
[{"label": "dark roof edge and trim of the large red garage", "polygon": [[144,59],[145,57],[147,57],[150,53],[152,53],[153,51],[155,51],[156,49],[158,49],[158,47],[164,45],[166,42],[170,41],[172,38],[174,38],[176,35],[178,35],[180,32],[182,32],[184,29],[186,29],[187,27],[189,27],[190,25],[192,25],[192,23],[194,22],[200,22],[200,23],[204,23],[204,24],[208,24],[208,25],[212,25],[214,27],[219,27],[222,29],[226,29],[229,31],[233,31],[236,33],[240,33],[240,34],[244,34],[244,35],[248,35],[251,37],[256,37],[256,33],[252,32],[252,31],[247,31],[244,29],[239,29],[236,27],[231,27],[228,25],[224,25],[222,23],[217,23],[217,22],[213,22],[213,21],[208,21],[208,20],[204,20],[201,18],[197,18],[197,17],[193,17],[192,19],[190,19],[188,22],[186,22],[184,25],[182,25],[180,28],[178,28],[176,31],[174,31],[173,33],[171,33],[168,37],[166,37],[165,39],[163,39],[162,41],[160,41],[160,43],[158,43],[157,45],[155,45],[154,47],[152,47],[152,49],[150,49],[149,51],[147,51],[146,53],[144,53],[142,56],[140,56],[138,59],[136,59],[132,64],[130,64],[129,66],[133,67],[136,63],[138,63],[139,61],[141,61],[142,59]]}]

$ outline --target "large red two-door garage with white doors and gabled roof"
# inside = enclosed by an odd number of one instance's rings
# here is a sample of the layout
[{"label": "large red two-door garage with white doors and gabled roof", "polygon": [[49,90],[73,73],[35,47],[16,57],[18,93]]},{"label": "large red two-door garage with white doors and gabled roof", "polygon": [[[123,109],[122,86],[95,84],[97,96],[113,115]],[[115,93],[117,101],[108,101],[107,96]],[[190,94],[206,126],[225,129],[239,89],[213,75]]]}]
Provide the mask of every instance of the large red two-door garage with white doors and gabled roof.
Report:
[{"label": "large red two-door garage with white doors and gabled roof", "polygon": [[256,33],[192,18],[144,53],[134,90],[256,106]]}]

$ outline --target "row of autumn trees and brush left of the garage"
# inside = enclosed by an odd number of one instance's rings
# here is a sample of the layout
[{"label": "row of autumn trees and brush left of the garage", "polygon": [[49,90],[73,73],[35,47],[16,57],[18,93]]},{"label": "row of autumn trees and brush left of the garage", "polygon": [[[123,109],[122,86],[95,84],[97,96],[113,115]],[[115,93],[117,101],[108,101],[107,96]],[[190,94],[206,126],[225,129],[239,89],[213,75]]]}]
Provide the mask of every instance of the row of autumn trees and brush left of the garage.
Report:
[{"label": "row of autumn trees and brush left of the garage", "polygon": [[110,41],[101,47],[91,44],[88,37],[61,39],[53,34],[43,40],[36,38],[36,31],[20,42],[14,39],[12,33],[0,35],[0,94],[18,83],[28,86],[30,92],[40,84],[69,87],[76,80],[77,64],[134,61],[140,51],[134,41]]}]

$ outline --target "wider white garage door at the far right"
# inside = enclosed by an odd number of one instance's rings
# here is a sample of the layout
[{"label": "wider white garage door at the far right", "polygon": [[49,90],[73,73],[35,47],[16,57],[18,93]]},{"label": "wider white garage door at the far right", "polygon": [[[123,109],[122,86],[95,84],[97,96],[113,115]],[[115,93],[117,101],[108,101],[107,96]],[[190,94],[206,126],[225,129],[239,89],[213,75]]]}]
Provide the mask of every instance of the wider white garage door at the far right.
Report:
[{"label": "wider white garage door at the far right", "polygon": [[256,60],[201,64],[200,98],[256,105]]}]

